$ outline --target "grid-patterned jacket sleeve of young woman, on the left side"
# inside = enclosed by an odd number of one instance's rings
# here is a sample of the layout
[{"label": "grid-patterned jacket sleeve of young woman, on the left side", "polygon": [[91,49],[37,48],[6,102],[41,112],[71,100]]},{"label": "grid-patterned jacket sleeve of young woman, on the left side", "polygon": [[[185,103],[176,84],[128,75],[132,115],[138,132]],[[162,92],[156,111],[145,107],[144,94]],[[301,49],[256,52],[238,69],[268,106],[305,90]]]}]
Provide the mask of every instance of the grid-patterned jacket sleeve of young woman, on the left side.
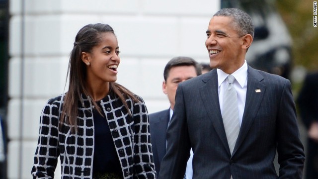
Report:
[{"label": "grid-patterned jacket sleeve of young woman, on the left side", "polygon": [[59,102],[50,99],[40,116],[40,130],[32,167],[33,179],[53,179],[60,155],[59,144]]}]

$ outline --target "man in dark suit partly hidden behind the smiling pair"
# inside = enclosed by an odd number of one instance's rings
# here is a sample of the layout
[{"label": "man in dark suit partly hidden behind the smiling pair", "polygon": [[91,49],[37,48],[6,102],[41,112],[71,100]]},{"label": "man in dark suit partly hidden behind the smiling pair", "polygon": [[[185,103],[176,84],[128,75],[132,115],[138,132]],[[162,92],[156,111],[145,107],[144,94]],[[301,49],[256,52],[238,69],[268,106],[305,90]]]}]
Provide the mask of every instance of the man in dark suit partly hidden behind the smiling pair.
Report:
[{"label": "man in dark suit partly hidden behind the smiling pair", "polygon": [[[166,152],[166,130],[173,113],[177,86],[179,83],[198,75],[201,75],[201,67],[190,57],[174,57],[164,68],[162,91],[168,96],[170,107],[149,115],[154,163],[157,174],[159,174],[161,160]],[[189,162],[191,163],[191,161],[190,158]],[[191,164],[187,167],[187,175],[187,179],[192,178]]]}]

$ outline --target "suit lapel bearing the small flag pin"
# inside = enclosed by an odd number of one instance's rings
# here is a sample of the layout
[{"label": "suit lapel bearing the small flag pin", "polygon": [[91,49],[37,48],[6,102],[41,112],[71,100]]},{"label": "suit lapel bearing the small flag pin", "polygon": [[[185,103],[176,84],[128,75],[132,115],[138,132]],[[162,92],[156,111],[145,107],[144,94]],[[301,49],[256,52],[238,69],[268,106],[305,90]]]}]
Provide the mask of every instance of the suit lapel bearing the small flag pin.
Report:
[{"label": "suit lapel bearing the small flag pin", "polygon": [[265,85],[261,83],[263,79],[264,78],[255,69],[248,66],[245,108],[242,124],[239,130],[239,137],[233,154],[235,154],[239,146],[242,144],[255,119],[266,89]]}]

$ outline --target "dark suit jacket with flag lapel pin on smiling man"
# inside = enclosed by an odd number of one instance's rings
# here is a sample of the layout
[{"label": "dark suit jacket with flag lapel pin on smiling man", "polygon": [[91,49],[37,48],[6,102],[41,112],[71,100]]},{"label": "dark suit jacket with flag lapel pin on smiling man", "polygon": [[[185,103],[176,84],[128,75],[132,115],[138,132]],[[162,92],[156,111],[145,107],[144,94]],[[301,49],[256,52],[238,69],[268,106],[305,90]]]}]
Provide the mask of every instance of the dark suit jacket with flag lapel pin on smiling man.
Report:
[{"label": "dark suit jacket with flag lapel pin on smiling man", "polygon": [[159,179],[182,179],[191,147],[193,179],[277,179],[276,149],[279,177],[302,178],[305,155],[288,80],[248,66],[246,103],[232,156],[216,69],[180,83],[175,102]]}]

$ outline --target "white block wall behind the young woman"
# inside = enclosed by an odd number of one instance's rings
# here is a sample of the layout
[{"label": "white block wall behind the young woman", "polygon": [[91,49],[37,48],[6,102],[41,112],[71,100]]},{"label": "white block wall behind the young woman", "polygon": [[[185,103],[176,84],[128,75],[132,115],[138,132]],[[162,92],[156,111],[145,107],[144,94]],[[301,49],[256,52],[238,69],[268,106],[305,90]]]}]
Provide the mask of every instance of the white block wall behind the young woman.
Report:
[{"label": "white block wall behind the young woman", "polygon": [[[9,0],[9,179],[31,178],[42,107],[64,92],[69,54],[82,26],[101,22],[114,28],[121,51],[117,82],[141,95],[152,113],[169,106],[161,89],[168,60],[209,61],[205,31],[220,8],[219,0],[22,2]],[[56,178],[59,173],[58,167]]]}]

